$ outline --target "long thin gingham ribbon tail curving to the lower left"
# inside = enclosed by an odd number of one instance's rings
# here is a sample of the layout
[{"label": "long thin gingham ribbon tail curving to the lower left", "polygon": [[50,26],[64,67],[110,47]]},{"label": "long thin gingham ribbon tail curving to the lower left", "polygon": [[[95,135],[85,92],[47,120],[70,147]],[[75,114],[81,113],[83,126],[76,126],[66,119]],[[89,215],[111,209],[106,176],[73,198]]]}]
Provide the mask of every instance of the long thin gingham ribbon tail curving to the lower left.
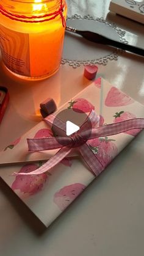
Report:
[{"label": "long thin gingham ribbon tail curving to the lower left", "polygon": [[62,161],[65,156],[67,156],[71,152],[71,148],[68,147],[63,147],[61,148],[56,155],[52,156],[51,159],[49,159],[43,166],[38,168],[37,170],[34,170],[33,172],[14,172],[14,175],[19,176],[19,175],[38,175],[38,174],[43,174],[50,170],[52,167],[56,166],[57,164]]}]

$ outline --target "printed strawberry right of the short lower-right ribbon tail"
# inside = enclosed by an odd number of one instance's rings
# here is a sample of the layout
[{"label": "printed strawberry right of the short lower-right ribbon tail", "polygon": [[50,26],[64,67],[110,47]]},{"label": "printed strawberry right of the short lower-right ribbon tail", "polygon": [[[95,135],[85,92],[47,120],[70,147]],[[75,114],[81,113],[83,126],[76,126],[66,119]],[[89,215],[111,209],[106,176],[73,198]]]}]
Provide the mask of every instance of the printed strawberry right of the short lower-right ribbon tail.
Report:
[{"label": "printed strawberry right of the short lower-right ribbon tail", "polygon": [[[95,139],[96,140],[96,139]],[[94,140],[93,140],[94,141]],[[115,156],[117,156],[118,149],[113,143],[114,139],[109,139],[108,137],[99,138],[98,141],[89,142],[90,148],[93,150],[98,157],[99,162],[106,167]]]}]

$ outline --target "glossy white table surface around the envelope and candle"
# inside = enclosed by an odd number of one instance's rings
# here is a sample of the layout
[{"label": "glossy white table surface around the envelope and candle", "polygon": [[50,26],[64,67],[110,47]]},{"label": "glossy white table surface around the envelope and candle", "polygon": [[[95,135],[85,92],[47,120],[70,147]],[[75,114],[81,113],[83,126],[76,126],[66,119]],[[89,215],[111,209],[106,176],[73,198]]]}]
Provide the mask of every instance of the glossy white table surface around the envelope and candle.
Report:
[{"label": "glossy white table surface around the envelope and candle", "polygon": [[[142,25],[107,15],[110,0],[67,2],[69,15],[103,16],[128,31],[129,42],[143,44]],[[143,63],[142,57],[123,54],[117,61],[99,65],[98,75],[144,104]],[[0,149],[40,120],[35,112],[46,93],[60,106],[88,86],[82,75],[83,67],[63,65],[56,76],[30,83],[14,81],[1,67],[0,84],[9,88],[10,104],[0,126]],[[0,255],[143,255],[143,143],[141,133],[45,232],[1,182]]]}]

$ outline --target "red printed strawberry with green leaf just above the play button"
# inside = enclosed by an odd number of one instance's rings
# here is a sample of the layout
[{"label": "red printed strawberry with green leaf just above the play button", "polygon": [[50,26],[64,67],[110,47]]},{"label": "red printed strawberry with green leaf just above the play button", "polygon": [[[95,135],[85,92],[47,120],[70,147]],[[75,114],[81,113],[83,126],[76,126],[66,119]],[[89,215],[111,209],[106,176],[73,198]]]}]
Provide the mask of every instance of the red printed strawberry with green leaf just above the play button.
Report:
[{"label": "red printed strawberry with green leaf just above the play button", "polygon": [[69,102],[68,109],[73,108],[73,111],[79,112],[79,113],[88,113],[91,112],[92,109],[95,109],[95,107],[84,98],[77,98],[74,101]]}]

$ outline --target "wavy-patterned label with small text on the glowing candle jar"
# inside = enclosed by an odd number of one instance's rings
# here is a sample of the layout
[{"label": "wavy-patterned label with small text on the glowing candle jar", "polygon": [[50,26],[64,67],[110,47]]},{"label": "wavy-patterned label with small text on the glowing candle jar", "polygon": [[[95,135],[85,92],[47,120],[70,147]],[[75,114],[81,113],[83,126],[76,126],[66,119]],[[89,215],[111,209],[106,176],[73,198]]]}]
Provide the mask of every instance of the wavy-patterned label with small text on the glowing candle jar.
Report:
[{"label": "wavy-patterned label with small text on the glowing candle jar", "polygon": [[5,66],[18,75],[31,76],[29,34],[0,25],[0,45]]}]

